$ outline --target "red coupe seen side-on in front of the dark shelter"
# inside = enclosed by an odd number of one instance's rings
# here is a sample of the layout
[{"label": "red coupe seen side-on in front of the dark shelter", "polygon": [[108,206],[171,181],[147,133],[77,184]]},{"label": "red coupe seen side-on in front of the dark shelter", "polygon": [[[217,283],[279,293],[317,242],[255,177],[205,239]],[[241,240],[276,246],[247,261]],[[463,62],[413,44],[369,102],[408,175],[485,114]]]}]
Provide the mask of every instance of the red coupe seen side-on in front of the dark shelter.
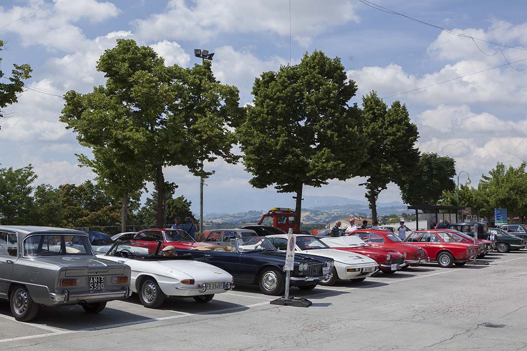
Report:
[{"label": "red coupe seen side-on in front of the dark shelter", "polygon": [[478,245],[458,243],[444,230],[415,230],[405,242],[424,248],[441,267],[463,266],[480,253]]}]

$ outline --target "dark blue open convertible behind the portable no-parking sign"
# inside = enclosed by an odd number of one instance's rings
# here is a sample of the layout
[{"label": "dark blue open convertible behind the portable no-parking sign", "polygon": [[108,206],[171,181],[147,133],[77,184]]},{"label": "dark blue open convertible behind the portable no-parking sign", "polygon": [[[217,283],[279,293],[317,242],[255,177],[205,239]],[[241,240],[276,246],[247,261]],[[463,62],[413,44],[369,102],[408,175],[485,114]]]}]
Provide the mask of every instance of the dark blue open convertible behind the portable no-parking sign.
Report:
[{"label": "dark blue open convertible behind the portable no-parking sign", "polygon": [[[226,270],[234,277],[235,283],[258,284],[266,295],[282,295],[284,292],[285,274],[282,268],[286,254],[279,252],[265,237],[232,239],[230,248],[177,252],[190,253],[195,260]],[[333,265],[331,258],[295,253],[291,285],[303,290],[313,289],[321,279],[329,277]]]}]

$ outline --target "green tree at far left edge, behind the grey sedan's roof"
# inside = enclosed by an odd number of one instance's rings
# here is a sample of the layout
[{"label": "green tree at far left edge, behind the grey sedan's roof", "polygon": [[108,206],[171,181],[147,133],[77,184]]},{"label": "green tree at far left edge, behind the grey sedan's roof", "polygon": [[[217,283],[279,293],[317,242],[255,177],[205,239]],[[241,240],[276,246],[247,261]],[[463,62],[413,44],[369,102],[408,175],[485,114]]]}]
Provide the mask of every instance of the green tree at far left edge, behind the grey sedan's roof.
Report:
[{"label": "green tree at far left edge, behind the grey sedan's roof", "polygon": [[0,223],[31,224],[33,182],[37,178],[33,166],[0,168]]}]

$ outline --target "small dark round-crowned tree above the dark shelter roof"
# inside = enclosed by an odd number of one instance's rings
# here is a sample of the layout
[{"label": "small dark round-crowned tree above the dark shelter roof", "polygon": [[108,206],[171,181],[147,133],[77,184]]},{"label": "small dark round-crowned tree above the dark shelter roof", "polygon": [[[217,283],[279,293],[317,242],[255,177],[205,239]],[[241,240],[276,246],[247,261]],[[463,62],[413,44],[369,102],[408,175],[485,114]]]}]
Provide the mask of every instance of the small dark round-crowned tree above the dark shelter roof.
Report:
[{"label": "small dark round-crowned tree above the dark shelter roof", "polygon": [[455,161],[448,156],[424,153],[411,172],[399,182],[403,201],[412,206],[436,205],[444,191],[455,189]]}]

